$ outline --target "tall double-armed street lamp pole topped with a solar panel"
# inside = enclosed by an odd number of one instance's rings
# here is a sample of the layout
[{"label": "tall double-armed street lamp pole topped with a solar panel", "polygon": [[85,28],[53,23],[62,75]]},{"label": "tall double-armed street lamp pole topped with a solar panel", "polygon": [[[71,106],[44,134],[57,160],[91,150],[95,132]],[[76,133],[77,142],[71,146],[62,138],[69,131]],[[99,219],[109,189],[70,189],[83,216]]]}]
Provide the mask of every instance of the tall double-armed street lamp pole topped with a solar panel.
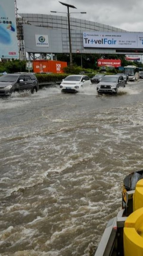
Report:
[{"label": "tall double-armed street lamp pole topped with a solar panel", "polygon": [[[72,50],[71,50],[71,31],[70,31],[70,20],[69,20],[69,17],[70,17],[69,7],[70,8],[75,8],[75,9],[77,9],[77,8],[74,5],[71,5],[71,4],[66,4],[66,3],[63,3],[63,2],[60,2],[60,1],[59,1],[59,3],[65,5],[68,9],[67,15],[68,15],[68,30],[69,30],[69,58],[70,58],[70,66],[72,66]],[[64,13],[64,12],[51,11],[51,13]],[[76,13],[78,13],[78,12],[76,12]],[[86,12],[80,12],[80,13],[86,13]]]}]

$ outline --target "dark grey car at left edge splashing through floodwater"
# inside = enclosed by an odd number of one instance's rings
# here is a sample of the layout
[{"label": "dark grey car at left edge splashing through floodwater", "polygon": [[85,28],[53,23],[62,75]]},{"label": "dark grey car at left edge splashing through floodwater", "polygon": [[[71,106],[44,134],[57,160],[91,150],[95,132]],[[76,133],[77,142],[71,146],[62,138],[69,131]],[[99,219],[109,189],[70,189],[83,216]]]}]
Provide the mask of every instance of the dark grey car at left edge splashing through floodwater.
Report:
[{"label": "dark grey car at left edge splashing through floodwater", "polygon": [[10,96],[13,92],[30,90],[31,93],[39,90],[38,80],[35,75],[25,74],[7,74],[0,77],[0,96]]}]

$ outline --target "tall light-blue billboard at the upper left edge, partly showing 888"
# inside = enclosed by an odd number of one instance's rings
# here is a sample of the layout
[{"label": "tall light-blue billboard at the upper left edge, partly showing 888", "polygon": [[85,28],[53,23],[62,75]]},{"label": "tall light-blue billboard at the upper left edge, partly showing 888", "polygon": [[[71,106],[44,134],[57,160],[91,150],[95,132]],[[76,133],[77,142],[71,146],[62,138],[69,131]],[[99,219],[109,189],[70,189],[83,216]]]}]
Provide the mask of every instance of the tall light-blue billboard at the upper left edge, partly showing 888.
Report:
[{"label": "tall light-blue billboard at the upper left edge, partly showing 888", "polygon": [[0,58],[18,58],[14,0],[0,1]]}]

